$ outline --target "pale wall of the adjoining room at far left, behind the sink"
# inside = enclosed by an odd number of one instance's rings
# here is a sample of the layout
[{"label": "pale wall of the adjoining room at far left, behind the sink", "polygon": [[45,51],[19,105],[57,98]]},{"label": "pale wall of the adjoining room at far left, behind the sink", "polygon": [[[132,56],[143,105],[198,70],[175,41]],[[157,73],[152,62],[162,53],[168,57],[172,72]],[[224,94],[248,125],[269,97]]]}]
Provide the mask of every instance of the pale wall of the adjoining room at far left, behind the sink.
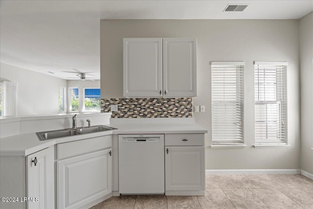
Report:
[{"label": "pale wall of the adjoining room at far left, behind the sink", "polygon": [[58,114],[59,86],[67,80],[1,63],[1,78],[18,83],[18,116]]}]

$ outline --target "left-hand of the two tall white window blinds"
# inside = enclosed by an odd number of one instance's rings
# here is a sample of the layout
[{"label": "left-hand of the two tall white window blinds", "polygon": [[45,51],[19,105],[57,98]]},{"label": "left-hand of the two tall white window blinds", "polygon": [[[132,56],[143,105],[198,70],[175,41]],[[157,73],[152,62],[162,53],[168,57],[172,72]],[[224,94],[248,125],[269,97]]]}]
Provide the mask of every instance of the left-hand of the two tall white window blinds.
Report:
[{"label": "left-hand of the two tall white window blinds", "polygon": [[212,62],[212,144],[244,144],[244,62]]}]

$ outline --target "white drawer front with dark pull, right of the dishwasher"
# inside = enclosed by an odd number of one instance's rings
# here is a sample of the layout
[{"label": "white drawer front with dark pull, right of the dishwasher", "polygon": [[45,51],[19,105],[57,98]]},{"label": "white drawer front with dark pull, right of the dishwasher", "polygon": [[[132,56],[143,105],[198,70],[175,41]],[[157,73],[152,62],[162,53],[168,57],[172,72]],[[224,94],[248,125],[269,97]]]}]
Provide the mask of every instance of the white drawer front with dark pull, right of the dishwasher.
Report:
[{"label": "white drawer front with dark pull, right of the dishwasher", "polygon": [[165,134],[165,146],[204,146],[204,134]]}]

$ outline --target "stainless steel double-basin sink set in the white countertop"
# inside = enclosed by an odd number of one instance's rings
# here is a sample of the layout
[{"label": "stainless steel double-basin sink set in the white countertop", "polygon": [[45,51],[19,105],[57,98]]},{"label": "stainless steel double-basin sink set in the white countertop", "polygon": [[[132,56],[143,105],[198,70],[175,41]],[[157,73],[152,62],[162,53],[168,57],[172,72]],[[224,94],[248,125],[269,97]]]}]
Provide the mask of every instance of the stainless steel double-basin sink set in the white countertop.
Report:
[{"label": "stainless steel double-basin sink set in the white countertop", "polygon": [[62,130],[55,130],[55,131],[43,131],[43,132],[37,132],[36,135],[39,138],[39,140],[48,140],[48,139],[56,139],[61,137],[69,137],[69,136],[75,136],[80,134],[90,134],[100,131],[110,131],[116,128],[112,128],[109,126],[104,125],[96,125],[96,126],[90,126],[90,127],[80,127],[76,129],[62,129]]}]

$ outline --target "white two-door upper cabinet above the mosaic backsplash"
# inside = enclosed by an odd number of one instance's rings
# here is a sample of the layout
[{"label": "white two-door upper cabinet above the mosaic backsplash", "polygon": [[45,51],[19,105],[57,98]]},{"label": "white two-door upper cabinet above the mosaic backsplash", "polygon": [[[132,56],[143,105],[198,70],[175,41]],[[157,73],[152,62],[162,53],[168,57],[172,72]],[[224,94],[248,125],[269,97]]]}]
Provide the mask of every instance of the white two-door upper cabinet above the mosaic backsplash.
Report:
[{"label": "white two-door upper cabinet above the mosaic backsplash", "polygon": [[125,97],[197,96],[194,38],[126,38],[123,54]]}]

